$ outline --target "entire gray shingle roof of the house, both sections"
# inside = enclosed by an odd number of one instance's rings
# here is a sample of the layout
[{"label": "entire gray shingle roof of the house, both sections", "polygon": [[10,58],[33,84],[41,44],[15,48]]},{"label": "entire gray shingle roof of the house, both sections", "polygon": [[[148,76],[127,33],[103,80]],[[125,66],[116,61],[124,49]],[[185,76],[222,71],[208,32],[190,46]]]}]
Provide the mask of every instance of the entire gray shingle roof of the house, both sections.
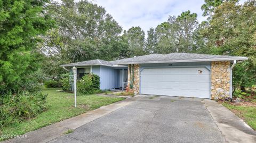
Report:
[{"label": "entire gray shingle roof of the house, both sections", "polygon": [[190,54],[190,53],[170,53],[170,54],[150,54],[138,57],[125,58],[116,61],[90,60],[84,62],[63,64],[60,66],[90,66],[105,65],[111,67],[123,67],[125,64],[142,64],[142,63],[178,63],[178,62],[205,62],[205,61],[233,61],[247,60],[242,56],[227,55],[206,55],[206,54]]}]

